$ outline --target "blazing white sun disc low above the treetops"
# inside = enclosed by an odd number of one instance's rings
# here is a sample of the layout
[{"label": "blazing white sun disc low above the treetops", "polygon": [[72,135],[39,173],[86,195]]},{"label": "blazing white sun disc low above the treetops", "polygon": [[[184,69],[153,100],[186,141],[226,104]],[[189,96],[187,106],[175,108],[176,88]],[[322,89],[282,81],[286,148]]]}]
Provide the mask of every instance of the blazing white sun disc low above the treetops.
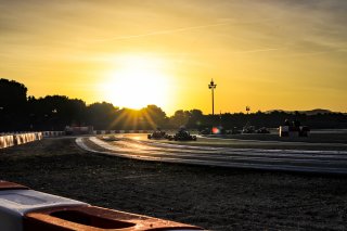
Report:
[{"label": "blazing white sun disc low above the treetops", "polygon": [[170,101],[170,78],[164,60],[126,55],[115,59],[103,84],[104,99],[116,106],[142,108],[150,104],[165,106]]}]

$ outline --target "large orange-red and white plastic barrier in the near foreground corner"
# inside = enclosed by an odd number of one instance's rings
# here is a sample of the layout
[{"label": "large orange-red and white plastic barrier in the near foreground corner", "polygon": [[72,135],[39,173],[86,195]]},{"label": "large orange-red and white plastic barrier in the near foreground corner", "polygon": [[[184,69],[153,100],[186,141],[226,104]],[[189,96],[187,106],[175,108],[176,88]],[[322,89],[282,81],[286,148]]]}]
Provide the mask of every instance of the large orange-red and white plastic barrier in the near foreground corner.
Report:
[{"label": "large orange-red and white plastic barrier in the near foreground corner", "polygon": [[0,181],[1,231],[203,230],[200,227],[97,207]]}]

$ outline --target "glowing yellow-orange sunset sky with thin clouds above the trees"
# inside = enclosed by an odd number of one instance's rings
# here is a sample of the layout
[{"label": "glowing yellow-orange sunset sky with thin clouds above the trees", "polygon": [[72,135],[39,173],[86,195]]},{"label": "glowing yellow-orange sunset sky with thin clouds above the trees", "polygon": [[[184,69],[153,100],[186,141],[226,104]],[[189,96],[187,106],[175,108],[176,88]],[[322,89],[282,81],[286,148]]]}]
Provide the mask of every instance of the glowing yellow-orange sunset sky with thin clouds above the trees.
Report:
[{"label": "glowing yellow-orange sunset sky with thin clouds above the trees", "polygon": [[347,106],[346,0],[0,0],[29,95],[215,112]]}]

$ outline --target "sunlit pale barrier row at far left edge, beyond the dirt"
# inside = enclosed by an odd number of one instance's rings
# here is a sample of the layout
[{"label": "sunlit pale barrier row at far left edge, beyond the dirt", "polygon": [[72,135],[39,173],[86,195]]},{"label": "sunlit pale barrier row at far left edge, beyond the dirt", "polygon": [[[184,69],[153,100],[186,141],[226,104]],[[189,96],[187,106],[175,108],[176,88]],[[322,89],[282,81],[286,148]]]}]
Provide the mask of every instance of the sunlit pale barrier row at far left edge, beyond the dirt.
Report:
[{"label": "sunlit pale barrier row at far left edge, beyond the dirt", "polygon": [[41,140],[42,138],[42,132],[0,134],[0,149]]}]

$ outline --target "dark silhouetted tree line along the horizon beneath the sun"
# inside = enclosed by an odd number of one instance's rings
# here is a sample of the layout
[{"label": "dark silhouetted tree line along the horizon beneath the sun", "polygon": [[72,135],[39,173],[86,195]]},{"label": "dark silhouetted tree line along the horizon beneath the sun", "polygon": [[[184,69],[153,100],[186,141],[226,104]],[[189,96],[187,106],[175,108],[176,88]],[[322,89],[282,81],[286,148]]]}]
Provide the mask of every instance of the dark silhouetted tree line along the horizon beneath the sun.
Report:
[{"label": "dark silhouetted tree line along the horizon beneath the sun", "polygon": [[65,126],[93,126],[97,130],[110,129],[204,129],[222,126],[241,129],[246,124],[256,127],[279,127],[285,119],[299,120],[311,128],[347,128],[343,113],[271,113],[256,112],[204,115],[200,110],[176,111],[172,116],[156,105],[141,110],[119,108],[112,103],[87,105],[80,99],[65,95],[44,98],[27,97],[27,88],[17,81],[0,79],[0,132],[29,130],[63,130]]}]

